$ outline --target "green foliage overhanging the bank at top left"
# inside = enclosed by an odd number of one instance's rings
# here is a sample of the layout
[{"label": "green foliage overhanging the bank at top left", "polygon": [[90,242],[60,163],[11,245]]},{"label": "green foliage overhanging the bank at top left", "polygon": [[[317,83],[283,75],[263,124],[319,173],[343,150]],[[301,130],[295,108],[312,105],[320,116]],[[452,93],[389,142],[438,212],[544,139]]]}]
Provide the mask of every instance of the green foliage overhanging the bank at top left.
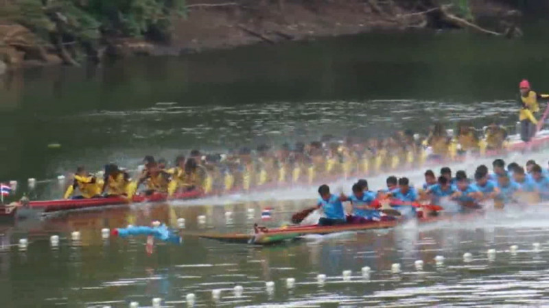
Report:
[{"label": "green foliage overhanging the bank at top left", "polygon": [[[62,16],[63,34],[82,42],[94,42],[102,34],[121,37],[164,39],[169,37],[174,15],[185,16],[185,0],[19,0],[0,18],[21,23],[47,38],[59,31],[56,17]],[[57,14],[57,15],[56,15]]]}]

